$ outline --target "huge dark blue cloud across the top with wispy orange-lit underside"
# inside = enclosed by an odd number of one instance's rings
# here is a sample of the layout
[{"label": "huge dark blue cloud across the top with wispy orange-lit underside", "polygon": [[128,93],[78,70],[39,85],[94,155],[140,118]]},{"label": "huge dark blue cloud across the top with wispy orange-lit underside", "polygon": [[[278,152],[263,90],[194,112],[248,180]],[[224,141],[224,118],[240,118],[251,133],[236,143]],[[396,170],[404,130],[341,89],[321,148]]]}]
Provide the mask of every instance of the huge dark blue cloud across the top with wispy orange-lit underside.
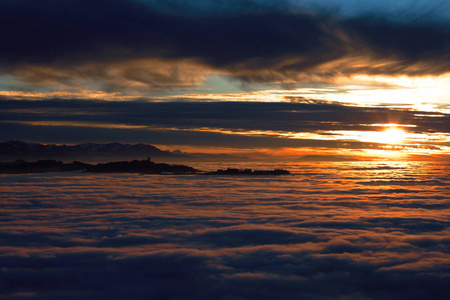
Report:
[{"label": "huge dark blue cloud across the top with wispy orange-lit underside", "polygon": [[0,20],[1,69],[37,85],[139,90],[195,85],[210,72],[288,82],[450,70],[441,19],[343,17],[286,1],[2,1]]}]

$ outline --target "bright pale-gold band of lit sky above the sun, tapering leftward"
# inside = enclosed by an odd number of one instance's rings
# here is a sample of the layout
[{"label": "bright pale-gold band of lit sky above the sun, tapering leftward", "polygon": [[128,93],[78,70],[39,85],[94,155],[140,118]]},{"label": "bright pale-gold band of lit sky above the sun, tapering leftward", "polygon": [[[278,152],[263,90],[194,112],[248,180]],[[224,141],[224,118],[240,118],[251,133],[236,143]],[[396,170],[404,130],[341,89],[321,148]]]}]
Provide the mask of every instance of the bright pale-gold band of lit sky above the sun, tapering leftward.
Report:
[{"label": "bright pale-gold band of lit sky above the sun, tapering leftward", "polygon": [[249,92],[183,94],[195,101],[292,102],[321,100],[359,107],[390,107],[423,112],[450,113],[450,73],[441,76],[337,77],[333,82],[306,84],[292,89]]}]

